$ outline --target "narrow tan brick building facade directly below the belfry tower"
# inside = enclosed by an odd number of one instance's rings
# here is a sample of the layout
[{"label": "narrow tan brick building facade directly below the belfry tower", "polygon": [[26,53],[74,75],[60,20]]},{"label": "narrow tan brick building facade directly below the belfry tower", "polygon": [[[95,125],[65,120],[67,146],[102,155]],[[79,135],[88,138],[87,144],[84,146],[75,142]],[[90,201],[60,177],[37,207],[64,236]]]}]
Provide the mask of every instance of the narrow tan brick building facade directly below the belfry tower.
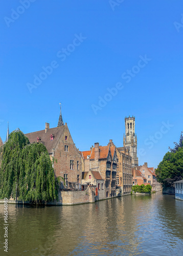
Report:
[{"label": "narrow tan brick building facade directly below the belfry tower", "polygon": [[128,195],[132,187],[132,157],[129,150],[117,147],[117,159],[117,186],[121,187],[123,195]]}]

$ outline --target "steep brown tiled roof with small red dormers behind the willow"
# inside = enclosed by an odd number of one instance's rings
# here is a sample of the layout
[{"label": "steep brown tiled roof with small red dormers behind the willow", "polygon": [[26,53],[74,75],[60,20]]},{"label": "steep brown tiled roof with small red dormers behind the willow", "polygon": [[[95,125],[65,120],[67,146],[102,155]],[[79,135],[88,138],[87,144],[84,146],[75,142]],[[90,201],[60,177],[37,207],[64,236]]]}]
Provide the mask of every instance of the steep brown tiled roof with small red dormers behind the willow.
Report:
[{"label": "steep brown tiled roof with small red dormers behind the willow", "polygon": [[[37,141],[37,137],[41,138],[39,142],[44,144],[44,146],[48,150],[48,153],[52,153],[52,148],[55,148],[61,134],[64,131],[64,128],[65,128],[65,125],[62,125],[62,126],[49,129],[47,133],[45,133],[45,130],[41,130],[33,133],[27,133],[25,135],[28,137],[30,143]],[[50,139],[51,134],[52,135],[54,134],[55,136],[53,140]]]}]

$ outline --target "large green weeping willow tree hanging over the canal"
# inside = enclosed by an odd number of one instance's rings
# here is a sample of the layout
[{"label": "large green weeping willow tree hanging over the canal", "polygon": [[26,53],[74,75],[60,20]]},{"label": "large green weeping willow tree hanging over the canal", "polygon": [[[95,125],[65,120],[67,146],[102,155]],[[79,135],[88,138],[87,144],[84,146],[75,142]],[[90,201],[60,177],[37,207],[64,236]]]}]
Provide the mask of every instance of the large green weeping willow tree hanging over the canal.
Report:
[{"label": "large green weeping willow tree hanging over the canal", "polygon": [[4,145],[0,175],[1,198],[34,203],[57,199],[58,181],[47,148],[40,142],[30,144],[19,130]]}]

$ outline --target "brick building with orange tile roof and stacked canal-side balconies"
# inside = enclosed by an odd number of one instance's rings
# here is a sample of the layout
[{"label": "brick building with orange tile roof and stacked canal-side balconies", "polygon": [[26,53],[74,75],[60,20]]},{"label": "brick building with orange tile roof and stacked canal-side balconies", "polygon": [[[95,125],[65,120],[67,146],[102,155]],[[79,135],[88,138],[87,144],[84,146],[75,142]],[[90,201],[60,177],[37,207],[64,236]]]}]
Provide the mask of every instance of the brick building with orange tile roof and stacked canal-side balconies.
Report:
[{"label": "brick building with orange tile roof and stacked canal-side balconies", "polygon": [[[82,184],[90,185],[94,183],[92,179],[91,181],[88,179],[89,173],[93,172],[96,175],[96,182],[97,180],[101,181],[98,182],[98,184],[100,183],[98,186],[100,186],[101,190],[104,190],[103,197],[110,198],[116,196],[117,153],[116,146],[113,145],[112,140],[110,140],[107,146],[100,146],[99,143],[95,143],[95,147],[92,146],[90,151],[83,151],[80,154],[83,162]],[[101,196],[100,199],[104,198]]]}]

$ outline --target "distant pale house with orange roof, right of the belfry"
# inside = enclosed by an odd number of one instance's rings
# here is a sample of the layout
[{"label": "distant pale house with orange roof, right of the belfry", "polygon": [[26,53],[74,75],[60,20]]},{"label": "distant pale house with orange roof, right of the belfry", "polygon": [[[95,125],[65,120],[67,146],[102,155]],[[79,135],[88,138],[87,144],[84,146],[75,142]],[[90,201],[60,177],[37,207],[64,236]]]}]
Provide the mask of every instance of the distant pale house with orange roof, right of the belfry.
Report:
[{"label": "distant pale house with orange roof, right of the belfry", "polygon": [[[136,170],[139,170],[142,176],[146,179],[144,185],[150,184],[152,186],[152,191],[159,191],[162,189],[161,183],[157,182],[154,167],[148,167],[147,162],[143,165],[133,167],[133,181],[135,180]],[[136,184],[141,185],[138,180],[136,180]],[[134,185],[136,184],[134,183]]]}]

